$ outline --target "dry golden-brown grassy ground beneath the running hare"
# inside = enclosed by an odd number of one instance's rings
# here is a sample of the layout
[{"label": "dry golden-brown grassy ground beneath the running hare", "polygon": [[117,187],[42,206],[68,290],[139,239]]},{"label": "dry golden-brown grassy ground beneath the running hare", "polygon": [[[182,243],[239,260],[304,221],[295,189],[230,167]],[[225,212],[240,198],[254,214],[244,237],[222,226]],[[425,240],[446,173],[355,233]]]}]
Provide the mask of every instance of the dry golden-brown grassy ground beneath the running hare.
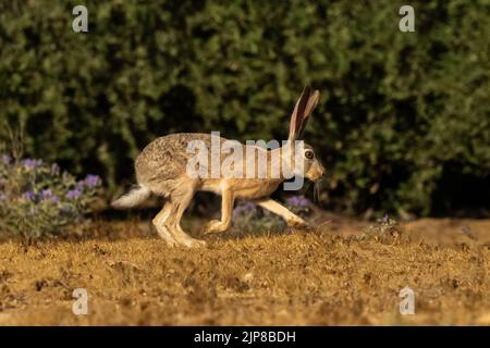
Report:
[{"label": "dry golden-brown grassy ground beneath the running hare", "polygon": [[[99,223],[83,240],[4,241],[0,325],[490,325],[489,220],[350,237],[367,224],[333,216],[321,231],[223,235],[201,250],[169,249],[136,223]],[[405,286],[415,315],[399,312]],[[72,313],[81,287],[87,315]]]}]

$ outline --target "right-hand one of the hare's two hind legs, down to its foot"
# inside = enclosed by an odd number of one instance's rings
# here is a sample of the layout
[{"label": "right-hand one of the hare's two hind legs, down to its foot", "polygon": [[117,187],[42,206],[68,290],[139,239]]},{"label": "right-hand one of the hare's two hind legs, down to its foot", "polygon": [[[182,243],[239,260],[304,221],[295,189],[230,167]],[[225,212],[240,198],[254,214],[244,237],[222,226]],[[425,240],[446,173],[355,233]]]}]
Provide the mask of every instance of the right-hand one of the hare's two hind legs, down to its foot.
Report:
[{"label": "right-hand one of the hare's two hind legs, down to its foot", "polygon": [[194,197],[195,189],[193,186],[181,185],[172,191],[170,196],[170,214],[166,225],[170,229],[175,240],[188,248],[204,247],[206,241],[194,239],[187,235],[181,227],[181,219]]}]

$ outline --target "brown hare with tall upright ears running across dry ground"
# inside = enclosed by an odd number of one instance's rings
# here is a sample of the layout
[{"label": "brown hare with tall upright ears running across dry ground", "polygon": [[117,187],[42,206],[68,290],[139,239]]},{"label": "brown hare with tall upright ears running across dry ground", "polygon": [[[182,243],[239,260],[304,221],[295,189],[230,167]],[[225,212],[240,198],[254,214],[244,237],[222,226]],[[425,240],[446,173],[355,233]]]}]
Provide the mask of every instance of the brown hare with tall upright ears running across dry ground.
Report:
[{"label": "brown hare with tall upright ears running across dry ground", "polygon": [[[221,220],[209,222],[204,227],[205,234],[224,232],[230,227],[233,204],[238,198],[252,200],[282,216],[290,226],[307,226],[302,217],[270,199],[269,196],[286,179],[284,175],[286,170],[314,182],[320,181],[323,176],[326,170],[316,158],[310,146],[304,145],[301,148],[302,153],[297,153],[298,151],[295,151],[294,148],[294,144],[298,142],[295,140],[299,139],[319,97],[318,90],[311,92],[309,87],[304,88],[291,116],[289,139],[282,147],[266,150],[261,147],[237,142],[238,149],[242,149],[243,153],[247,153],[247,156],[238,163],[234,163],[234,169],[246,171],[249,165],[255,165],[258,162],[258,154],[261,153],[266,158],[267,165],[262,177],[213,177],[212,175],[196,177],[196,175],[189,175],[187,171],[188,162],[194,157],[194,153],[188,151],[189,142],[200,141],[200,144],[210,148],[213,135],[199,133],[171,134],[157,138],[142,151],[135,161],[137,186],[113,201],[112,207],[115,209],[136,207],[152,194],[164,197],[166,203],[152,220],[152,224],[169,246],[189,248],[206,245],[204,240],[188,236],[180,224],[184,211],[198,190],[212,191],[222,197]],[[221,137],[218,140],[220,145],[230,141]],[[248,150],[252,150],[253,154],[249,154]],[[229,153],[220,153],[219,162],[222,163],[229,156]],[[285,160],[290,160],[289,163],[292,163],[289,167],[284,164],[284,162],[287,162]],[[302,171],[298,172],[296,167],[302,167]],[[209,174],[211,170],[210,167],[204,167],[204,173]],[[273,173],[275,175],[272,175]]]}]

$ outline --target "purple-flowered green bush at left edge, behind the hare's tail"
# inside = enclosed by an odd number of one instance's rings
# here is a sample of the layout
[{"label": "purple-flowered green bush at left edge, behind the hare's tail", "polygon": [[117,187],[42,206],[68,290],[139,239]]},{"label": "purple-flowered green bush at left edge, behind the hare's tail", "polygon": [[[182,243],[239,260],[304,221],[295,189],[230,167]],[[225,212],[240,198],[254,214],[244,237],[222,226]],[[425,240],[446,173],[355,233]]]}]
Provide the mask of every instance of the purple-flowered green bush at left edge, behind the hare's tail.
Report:
[{"label": "purple-flowered green bush at left edge, behind the hare's tail", "polygon": [[101,186],[97,175],[82,181],[42,160],[0,154],[0,235],[37,238],[65,233],[79,223]]}]

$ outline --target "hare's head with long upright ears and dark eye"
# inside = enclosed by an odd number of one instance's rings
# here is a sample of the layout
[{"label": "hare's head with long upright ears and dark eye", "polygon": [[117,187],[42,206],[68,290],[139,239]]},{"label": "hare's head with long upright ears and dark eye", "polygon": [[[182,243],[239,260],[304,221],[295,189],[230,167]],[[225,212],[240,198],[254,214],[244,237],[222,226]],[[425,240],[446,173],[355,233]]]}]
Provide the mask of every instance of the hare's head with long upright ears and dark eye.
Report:
[{"label": "hare's head with long upright ears and dark eye", "polygon": [[[317,105],[319,99],[320,92],[318,90],[311,92],[311,89],[309,87],[305,87],[305,89],[303,89],[303,92],[294,108],[293,114],[291,115],[289,136],[289,141],[291,145],[290,148],[295,148],[295,151],[292,151],[290,153],[290,156],[294,158],[293,167],[295,174],[305,176],[313,182],[319,182],[326,173],[326,169],[320,163],[320,160],[318,159],[314,148],[310,145],[305,142],[302,142],[299,144],[299,146],[294,147],[292,145],[296,142],[295,140],[301,139],[308,119],[315,107]],[[302,162],[296,163],[296,161]]]}]

